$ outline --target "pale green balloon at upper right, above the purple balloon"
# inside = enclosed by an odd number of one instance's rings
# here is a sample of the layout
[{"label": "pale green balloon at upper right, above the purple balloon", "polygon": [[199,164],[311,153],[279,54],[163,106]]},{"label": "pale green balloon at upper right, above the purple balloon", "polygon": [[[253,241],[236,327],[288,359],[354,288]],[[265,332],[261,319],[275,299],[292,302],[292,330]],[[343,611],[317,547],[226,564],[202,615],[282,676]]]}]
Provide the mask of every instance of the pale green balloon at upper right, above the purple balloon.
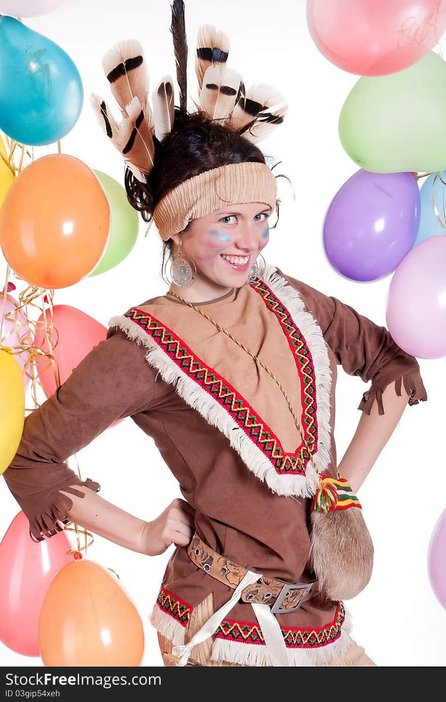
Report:
[{"label": "pale green balloon at upper right, above the purple balloon", "polygon": [[375,173],[442,171],[445,83],[446,62],[432,52],[400,73],[360,78],[339,116],[350,159]]}]

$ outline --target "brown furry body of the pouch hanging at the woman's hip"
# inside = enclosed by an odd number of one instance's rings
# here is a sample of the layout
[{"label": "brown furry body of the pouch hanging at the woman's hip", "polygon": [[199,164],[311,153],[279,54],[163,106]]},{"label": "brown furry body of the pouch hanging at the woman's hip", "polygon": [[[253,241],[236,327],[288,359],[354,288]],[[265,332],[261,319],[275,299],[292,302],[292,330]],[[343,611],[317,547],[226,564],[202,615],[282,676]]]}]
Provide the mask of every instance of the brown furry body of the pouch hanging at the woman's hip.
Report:
[{"label": "brown furry body of the pouch hanging at the woman's hip", "polygon": [[330,600],[350,600],[369,582],[373,543],[362,509],[311,510],[310,567]]}]

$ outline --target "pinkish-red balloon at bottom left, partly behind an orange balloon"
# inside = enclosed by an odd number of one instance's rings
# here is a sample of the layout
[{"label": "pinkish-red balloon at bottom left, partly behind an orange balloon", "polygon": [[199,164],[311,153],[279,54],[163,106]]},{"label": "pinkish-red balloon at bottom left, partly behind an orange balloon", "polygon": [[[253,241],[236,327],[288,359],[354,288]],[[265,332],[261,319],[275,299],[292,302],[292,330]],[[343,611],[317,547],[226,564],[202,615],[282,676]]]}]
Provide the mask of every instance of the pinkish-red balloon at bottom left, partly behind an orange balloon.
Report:
[{"label": "pinkish-red balloon at bottom left, partly behind an orange balloon", "polygon": [[41,606],[71,548],[66,531],[34,543],[21,510],[0,543],[0,640],[22,656],[39,656]]}]

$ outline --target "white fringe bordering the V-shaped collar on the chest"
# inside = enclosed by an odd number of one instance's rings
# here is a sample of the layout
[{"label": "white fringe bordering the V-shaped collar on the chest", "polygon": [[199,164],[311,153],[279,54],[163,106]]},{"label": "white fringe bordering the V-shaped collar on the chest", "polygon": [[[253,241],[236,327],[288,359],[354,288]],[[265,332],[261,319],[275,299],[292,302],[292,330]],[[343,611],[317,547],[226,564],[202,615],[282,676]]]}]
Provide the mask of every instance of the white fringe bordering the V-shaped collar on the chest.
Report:
[{"label": "white fringe bordering the V-shaped collar on the chest", "polygon": [[[301,329],[313,357],[319,435],[314,461],[317,472],[321,472],[329,463],[330,447],[329,392],[332,374],[329,367],[327,348],[320,327],[317,326],[310,313],[304,310],[299,293],[289,286],[287,281],[275,271],[275,267],[268,264],[265,270],[265,282],[267,282],[280,302],[287,307],[294,323]],[[158,369],[163,380],[166,383],[171,383],[178,395],[193,409],[196,409],[207,423],[218,428],[229,439],[230,446],[237,451],[249,470],[256,477],[265,481],[273,492],[279,495],[300,495],[303,497],[310,497],[315,494],[319,479],[310,461],[308,461],[306,466],[305,476],[278,474],[269,458],[254,444],[247,433],[237,425],[228,410],[222,407],[206,390],[200,388],[195,380],[189,378],[185,371],[182,371],[166,352],[159,347],[150,334],[141,329],[129,317],[125,317],[124,314],[112,317],[108,325],[119,327],[129,339],[136,340],[136,343],[143,343],[143,345],[147,346],[149,349],[145,356],[147,362]]]}]

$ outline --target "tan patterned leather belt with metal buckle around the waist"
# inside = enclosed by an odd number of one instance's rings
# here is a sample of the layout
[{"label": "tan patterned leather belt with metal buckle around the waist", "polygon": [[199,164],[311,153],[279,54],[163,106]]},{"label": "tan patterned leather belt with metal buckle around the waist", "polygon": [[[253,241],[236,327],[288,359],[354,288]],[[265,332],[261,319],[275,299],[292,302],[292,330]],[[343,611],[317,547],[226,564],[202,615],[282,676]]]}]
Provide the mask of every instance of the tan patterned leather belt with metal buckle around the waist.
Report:
[{"label": "tan patterned leather belt with metal buckle around the waist", "polygon": [[[192,562],[205,573],[235,590],[247,574],[247,569],[214,551],[197,533],[188,545],[188,555]],[[319,592],[317,580],[310,583],[287,583],[280,578],[262,576],[242,590],[243,602],[269,604],[273,614],[287,614],[301,607]]]}]

